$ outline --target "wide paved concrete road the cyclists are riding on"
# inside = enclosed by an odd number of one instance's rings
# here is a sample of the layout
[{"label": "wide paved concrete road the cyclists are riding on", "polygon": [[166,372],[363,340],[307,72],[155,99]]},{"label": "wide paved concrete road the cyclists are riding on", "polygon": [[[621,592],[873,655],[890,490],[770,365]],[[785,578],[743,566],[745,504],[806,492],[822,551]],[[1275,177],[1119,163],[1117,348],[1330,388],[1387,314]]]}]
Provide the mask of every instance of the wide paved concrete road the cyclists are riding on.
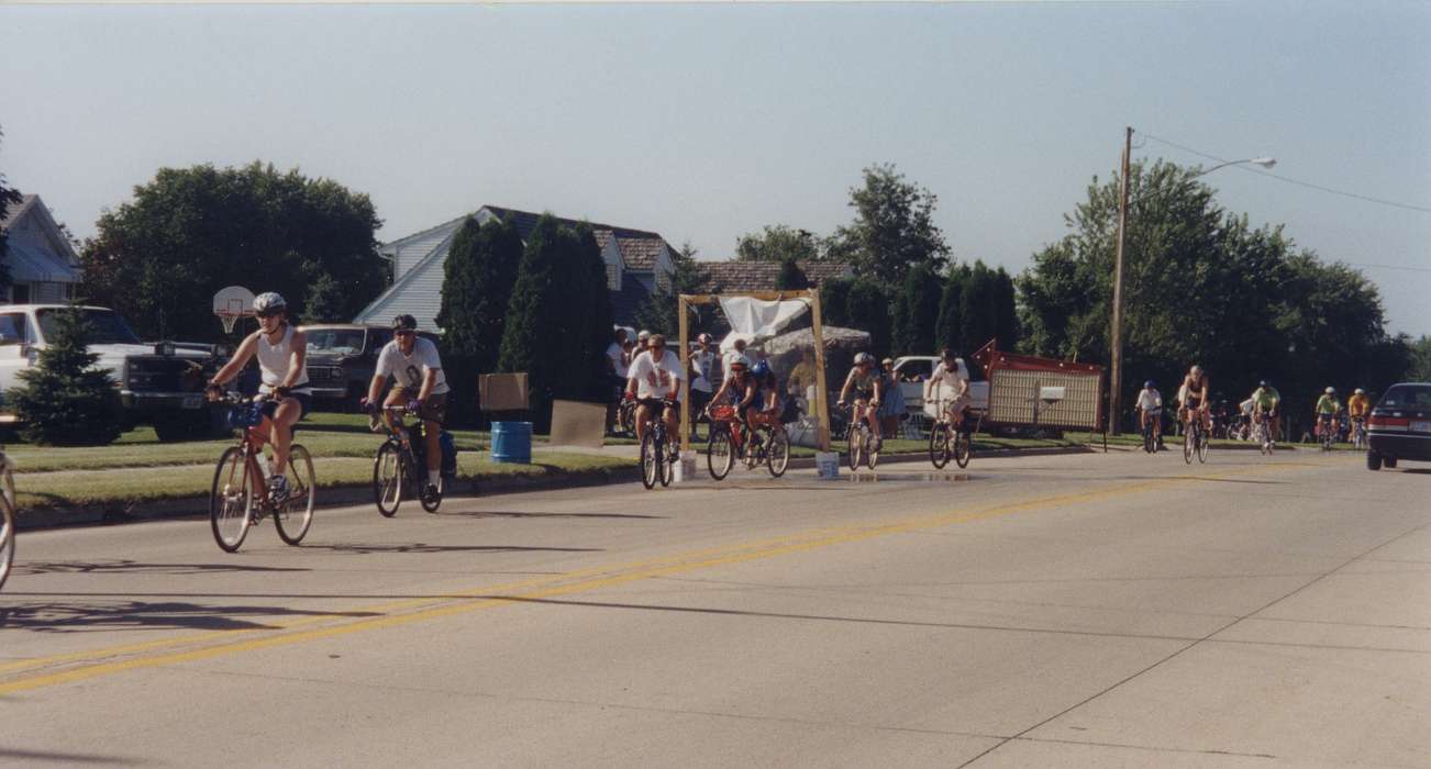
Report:
[{"label": "wide paved concrete road the cyclists are riding on", "polygon": [[27,533],[0,763],[1424,768],[1428,490],[1113,453]]}]

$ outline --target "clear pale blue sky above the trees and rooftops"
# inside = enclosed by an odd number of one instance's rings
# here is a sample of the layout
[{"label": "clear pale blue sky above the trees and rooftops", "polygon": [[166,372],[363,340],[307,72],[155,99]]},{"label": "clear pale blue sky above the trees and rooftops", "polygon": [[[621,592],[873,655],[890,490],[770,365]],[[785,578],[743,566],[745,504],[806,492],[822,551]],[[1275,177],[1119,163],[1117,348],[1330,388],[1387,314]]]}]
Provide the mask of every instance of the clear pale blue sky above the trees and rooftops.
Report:
[{"label": "clear pale blue sky above the trees and rooftops", "polygon": [[[1431,209],[1431,3],[0,6],[0,169],[80,236],[162,166],[299,167],[382,239],[484,203],[724,259],[850,217],[860,169],[939,194],[960,259],[1010,270],[1135,157]],[[1224,169],[1206,182],[1359,264],[1431,333],[1431,213]]]}]

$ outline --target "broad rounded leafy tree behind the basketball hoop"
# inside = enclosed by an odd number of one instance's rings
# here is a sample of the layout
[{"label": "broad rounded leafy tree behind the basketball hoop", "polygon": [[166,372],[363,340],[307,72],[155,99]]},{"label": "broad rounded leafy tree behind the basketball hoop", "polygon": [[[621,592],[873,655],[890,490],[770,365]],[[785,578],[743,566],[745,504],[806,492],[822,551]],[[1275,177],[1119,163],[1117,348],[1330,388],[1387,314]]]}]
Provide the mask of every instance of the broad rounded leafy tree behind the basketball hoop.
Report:
[{"label": "broad rounded leafy tree behind the basketball hoop", "polygon": [[160,169],[100,216],[82,253],[86,287],[147,337],[220,339],[209,297],[229,284],[276,290],[302,317],[326,276],[322,314],[352,317],[388,280],[378,226],[366,194],[298,170]]}]

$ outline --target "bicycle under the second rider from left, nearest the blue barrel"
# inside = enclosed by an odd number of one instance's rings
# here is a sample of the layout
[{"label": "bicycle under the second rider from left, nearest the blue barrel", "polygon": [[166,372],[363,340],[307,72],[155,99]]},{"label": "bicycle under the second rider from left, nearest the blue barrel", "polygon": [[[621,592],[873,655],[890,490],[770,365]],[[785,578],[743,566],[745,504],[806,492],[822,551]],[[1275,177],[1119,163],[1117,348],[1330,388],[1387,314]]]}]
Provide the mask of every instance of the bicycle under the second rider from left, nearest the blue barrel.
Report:
[{"label": "bicycle under the second rider from left, nearest the blue barrel", "polygon": [[445,432],[438,433],[438,445],[442,449],[441,482],[436,486],[429,486],[426,483],[426,436],[419,427],[418,439],[414,440],[412,432],[402,420],[405,415],[416,412],[408,406],[384,406],[382,409],[391,415],[388,422],[379,419],[378,415],[368,419],[369,430],[384,429],[388,433],[388,439],[378,446],[372,457],[372,500],[378,505],[378,512],[384,517],[398,515],[404,489],[408,489],[418,499],[424,510],[438,512],[442,505],[442,493],[448,483],[456,479],[456,453],[448,450],[451,436]]}]

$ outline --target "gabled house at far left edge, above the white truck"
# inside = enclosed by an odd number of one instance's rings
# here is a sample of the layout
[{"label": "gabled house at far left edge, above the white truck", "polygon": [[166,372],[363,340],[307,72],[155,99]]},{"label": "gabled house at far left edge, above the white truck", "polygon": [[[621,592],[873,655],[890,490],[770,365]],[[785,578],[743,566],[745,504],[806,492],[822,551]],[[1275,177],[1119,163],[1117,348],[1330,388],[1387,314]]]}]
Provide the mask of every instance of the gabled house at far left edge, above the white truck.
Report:
[{"label": "gabled house at far left edge, above the white truck", "polygon": [[40,196],[21,197],[6,212],[0,230],[6,233],[4,264],[10,269],[10,289],[0,299],[14,304],[74,299],[83,276],[80,257]]}]

